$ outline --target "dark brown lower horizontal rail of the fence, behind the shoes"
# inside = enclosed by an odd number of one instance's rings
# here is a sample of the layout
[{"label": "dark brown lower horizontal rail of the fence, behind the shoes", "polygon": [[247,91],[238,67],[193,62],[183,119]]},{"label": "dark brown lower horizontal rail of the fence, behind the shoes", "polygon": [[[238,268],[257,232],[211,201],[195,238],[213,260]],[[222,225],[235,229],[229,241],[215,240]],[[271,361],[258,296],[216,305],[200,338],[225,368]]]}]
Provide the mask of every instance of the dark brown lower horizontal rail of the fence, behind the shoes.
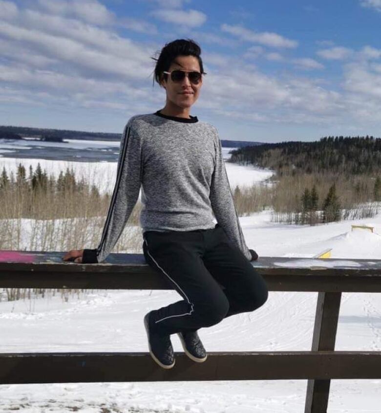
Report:
[{"label": "dark brown lower horizontal rail of the fence, behind the shoes", "polygon": [[212,352],[202,364],[176,353],[171,370],[148,353],[2,353],[0,366],[0,384],[380,379],[381,352]]}]

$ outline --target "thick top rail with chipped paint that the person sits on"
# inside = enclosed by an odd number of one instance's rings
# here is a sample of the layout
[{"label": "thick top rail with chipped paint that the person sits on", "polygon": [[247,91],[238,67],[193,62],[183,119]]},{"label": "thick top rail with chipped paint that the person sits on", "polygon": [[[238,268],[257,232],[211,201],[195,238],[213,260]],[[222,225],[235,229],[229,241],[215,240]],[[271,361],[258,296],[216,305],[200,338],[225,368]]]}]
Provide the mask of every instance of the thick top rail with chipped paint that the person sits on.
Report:
[{"label": "thick top rail with chipped paint that the person sits on", "polygon": [[[22,257],[30,261],[22,262],[23,258],[17,261],[21,252],[16,252],[15,256],[0,251],[2,288],[170,288],[142,254],[110,254],[105,263],[77,264],[63,262],[60,252],[33,256],[25,251]],[[381,292],[381,260],[264,257],[252,264],[271,291]]]}]

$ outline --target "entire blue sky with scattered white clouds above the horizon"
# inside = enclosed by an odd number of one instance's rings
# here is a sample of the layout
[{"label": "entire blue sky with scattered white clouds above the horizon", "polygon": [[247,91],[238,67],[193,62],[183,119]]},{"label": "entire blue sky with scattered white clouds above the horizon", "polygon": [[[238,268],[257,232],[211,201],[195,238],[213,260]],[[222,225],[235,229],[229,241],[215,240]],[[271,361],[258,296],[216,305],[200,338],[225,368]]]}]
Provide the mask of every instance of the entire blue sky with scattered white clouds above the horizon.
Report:
[{"label": "entire blue sky with scattered white clouds above the horizon", "polygon": [[221,139],[381,136],[380,27],[381,0],[0,0],[0,124],[121,132],[164,107],[150,57],[192,38]]}]

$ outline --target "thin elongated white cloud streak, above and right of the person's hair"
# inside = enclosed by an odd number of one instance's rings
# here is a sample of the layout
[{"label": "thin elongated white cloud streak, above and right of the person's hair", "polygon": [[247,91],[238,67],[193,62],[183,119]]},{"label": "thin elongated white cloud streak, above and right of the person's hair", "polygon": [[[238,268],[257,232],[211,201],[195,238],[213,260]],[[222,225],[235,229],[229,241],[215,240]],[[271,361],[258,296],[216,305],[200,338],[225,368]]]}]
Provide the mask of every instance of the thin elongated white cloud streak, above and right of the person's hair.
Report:
[{"label": "thin elongated white cloud streak, above and right of the person's hair", "polygon": [[254,32],[240,25],[222,24],[221,30],[234,36],[237,36],[240,40],[252,43],[259,43],[270,47],[297,47],[295,40],[286,39],[276,33],[270,32]]}]

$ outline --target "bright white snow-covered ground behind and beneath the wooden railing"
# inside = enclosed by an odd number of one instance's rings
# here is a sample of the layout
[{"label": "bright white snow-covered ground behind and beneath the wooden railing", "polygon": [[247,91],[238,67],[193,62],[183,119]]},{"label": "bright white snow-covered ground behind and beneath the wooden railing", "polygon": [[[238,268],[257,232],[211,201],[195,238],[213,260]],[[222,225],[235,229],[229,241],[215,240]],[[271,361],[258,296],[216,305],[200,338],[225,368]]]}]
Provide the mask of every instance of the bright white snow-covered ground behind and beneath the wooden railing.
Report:
[{"label": "bright white snow-covered ground behind and beneath the wooden railing", "polygon": [[[231,184],[264,178],[241,168],[227,164]],[[306,257],[332,248],[333,258],[381,259],[381,215],[315,227],[270,219],[269,212],[240,218],[260,256]],[[357,223],[375,230],[351,231]],[[0,352],[147,351],[143,316],[178,299],[174,291],[88,291],[68,302],[1,302]],[[200,336],[209,351],[309,350],[316,299],[317,293],[270,292],[258,310],[201,329]],[[172,342],[181,351],[176,336]],[[336,349],[381,350],[380,294],[343,294]],[[305,380],[2,385],[0,412],[302,413],[306,386]],[[331,381],[329,413],[380,413],[380,406],[381,380]]]}]

